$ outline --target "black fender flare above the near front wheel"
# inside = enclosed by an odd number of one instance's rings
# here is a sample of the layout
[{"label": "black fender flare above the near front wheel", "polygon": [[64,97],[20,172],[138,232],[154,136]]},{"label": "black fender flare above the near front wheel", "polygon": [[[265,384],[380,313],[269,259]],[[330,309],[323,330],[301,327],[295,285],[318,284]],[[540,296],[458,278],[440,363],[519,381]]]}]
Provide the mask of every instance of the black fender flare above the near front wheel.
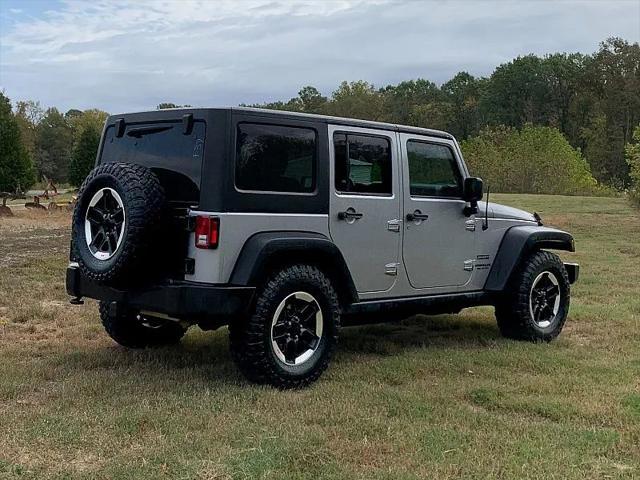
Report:
[{"label": "black fender flare above the near front wheel", "polygon": [[490,292],[503,291],[520,261],[533,250],[543,248],[568,252],[576,250],[571,234],[562,230],[537,225],[509,228],[502,238],[484,289]]}]

